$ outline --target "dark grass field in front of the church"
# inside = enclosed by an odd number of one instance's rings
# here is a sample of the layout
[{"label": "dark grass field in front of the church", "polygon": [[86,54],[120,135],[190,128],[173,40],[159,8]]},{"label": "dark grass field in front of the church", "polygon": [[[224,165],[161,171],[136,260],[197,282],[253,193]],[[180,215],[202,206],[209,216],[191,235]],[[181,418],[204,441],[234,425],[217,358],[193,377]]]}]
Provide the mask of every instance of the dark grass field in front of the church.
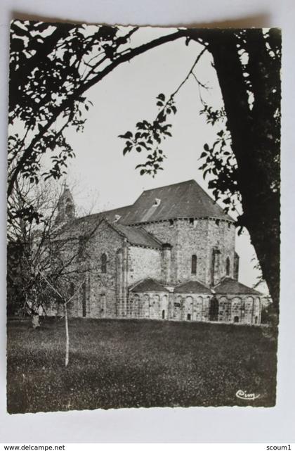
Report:
[{"label": "dark grass field in front of the church", "polygon": [[[276,342],[263,327],[70,319],[8,322],[8,412],[275,405]],[[245,401],[237,390],[260,394]]]}]

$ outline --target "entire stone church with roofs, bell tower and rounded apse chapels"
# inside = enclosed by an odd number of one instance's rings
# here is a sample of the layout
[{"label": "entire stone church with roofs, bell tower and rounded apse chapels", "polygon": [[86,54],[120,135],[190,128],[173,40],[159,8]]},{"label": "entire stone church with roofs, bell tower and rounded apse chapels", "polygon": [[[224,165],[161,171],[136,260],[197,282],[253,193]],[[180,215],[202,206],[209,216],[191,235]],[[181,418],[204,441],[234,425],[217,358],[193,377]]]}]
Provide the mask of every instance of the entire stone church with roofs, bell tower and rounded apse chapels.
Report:
[{"label": "entire stone church with roofs, bell tower and rounded apse chapels", "polygon": [[65,186],[57,222],[83,269],[72,317],[261,323],[261,293],[238,281],[234,221],[195,180],[79,218]]}]

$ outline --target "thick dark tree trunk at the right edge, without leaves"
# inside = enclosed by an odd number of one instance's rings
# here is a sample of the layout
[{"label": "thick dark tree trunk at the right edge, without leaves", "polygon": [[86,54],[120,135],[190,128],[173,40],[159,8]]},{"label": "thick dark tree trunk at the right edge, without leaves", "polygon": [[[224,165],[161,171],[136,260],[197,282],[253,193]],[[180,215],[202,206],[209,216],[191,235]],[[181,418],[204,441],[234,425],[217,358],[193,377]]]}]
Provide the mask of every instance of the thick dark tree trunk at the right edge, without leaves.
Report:
[{"label": "thick dark tree trunk at the right edge, without leaves", "polygon": [[[272,61],[262,30],[247,30],[247,72],[254,91],[249,107],[247,84],[231,30],[209,36],[232,151],[238,165],[238,188],[242,195],[240,224],[247,227],[261,265],[263,279],[279,310],[280,293],[280,62]],[[273,92],[273,89],[276,91]]]}]

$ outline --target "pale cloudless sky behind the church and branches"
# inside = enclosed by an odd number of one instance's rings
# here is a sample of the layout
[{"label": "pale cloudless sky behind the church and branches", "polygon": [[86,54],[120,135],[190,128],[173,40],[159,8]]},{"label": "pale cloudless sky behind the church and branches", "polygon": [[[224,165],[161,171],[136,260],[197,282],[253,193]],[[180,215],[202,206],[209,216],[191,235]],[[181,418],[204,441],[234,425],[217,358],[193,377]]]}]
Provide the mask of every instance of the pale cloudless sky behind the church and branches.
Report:
[{"label": "pale cloudless sky behind the church and branches", "polygon": [[[175,29],[143,27],[131,44],[137,46]],[[169,96],[183,82],[202,51],[196,42],[185,45],[178,39],[136,56],[120,65],[110,75],[86,92],[93,106],[86,113],[84,132],[68,129],[67,139],[76,154],[67,171],[67,183],[74,186],[73,195],[81,213],[98,212],[132,204],[145,189],[195,179],[207,192],[199,166],[205,143],[213,144],[216,128],[206,124],[200,115],[202,99],[214,108],[223,106],[211,55],[206,52],[195,67],[195,75],[207,89],[199,88],[190,77],[176,95],[177,114],[171,118],[172,137],[162,146],[166,154],[164,170],[152,178],[135,170],[145,162],[141,153],[122,154],[124,140],[119,134],[133,131],[139,120],[152,120],[158,107],[159,93]],[[240,255],[240,281],[254,286],[258,272],[254,269],[255,252],[246,232],[237,236]],[[254,259],[254,260],[253,260]],[[265,286],[260,286],[265,291]]]}]

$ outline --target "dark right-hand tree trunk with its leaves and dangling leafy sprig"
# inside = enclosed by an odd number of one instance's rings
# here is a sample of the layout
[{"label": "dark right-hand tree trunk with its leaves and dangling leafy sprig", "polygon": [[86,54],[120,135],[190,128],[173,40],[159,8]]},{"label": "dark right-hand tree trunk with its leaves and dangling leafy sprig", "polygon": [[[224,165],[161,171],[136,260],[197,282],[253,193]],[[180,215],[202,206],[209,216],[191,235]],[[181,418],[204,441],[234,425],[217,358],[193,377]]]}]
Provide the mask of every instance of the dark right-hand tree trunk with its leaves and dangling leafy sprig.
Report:
[{"label": "dark right-hand tree trunk with its leaves and dangling leafy sprig", "polygon": [[[200,30],[188,30],[189,39],[200,42]],[[237,225],[246,227],[251,236],[263,278],[268,283],[275,308],[279,306],[280,287],[280,30],[203,30],[204,48],[211,53],[223,96],[224,108],[214,110],[202,101],[201,114],[206,122],[220,125],[216,140],[204,144],[201,154],[204,178],[209,177],[209,189],[216,201],[223,201],[226,212],[242,205]],[[202,53],[202,52],[201,52]],[[198,58],[201,56],[199,53]],[[195,75],[194,69],[188,77]],[[198,84],[200,82],[197,80]],[[180,89],[176,90],[176,92]],[[174,106],[175,93],[171,94]],[[160,94],[165,99],[164,94]],[[202,99],[201,99],[202,100]],[[168,101],[168,102],[169,102]],[[146,163],[140,174],[155,174],[162,169],[165,155],[158,157],[158,144],[171,127],[166,123],[166,103],[159,104],[155,122],[147,122],[157,131],[136,136],[127,132],[124,152],[136,148],[147,151]],[[170,108],[169,113],[176,113]],[[161,128],[155,127],[160,122]],[[136,125],[138,129],[138,124]],[[160,134],[160,136],[158,136]],[[122,135],[126,139],[126,135]],[[156,141],[156,142],[155,142]]]}]

